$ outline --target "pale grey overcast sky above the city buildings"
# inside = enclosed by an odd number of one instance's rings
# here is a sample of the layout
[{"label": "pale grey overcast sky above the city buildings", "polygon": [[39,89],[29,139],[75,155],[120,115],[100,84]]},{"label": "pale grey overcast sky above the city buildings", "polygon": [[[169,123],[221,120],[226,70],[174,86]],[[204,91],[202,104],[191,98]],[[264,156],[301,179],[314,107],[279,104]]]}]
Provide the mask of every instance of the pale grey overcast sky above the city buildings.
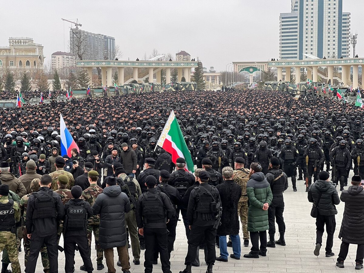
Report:
[{"label": "pale grey overcast sky above the city buildings", "polygon": [[[67,51],[71,24],[61,18],[78,18],[82,29],[115,37],[123,60],[149,56],[153,48],[173,55],[185,50],[221,71],[232,61],[278,58],[279,13],[290,12],[290,6],[290,0],[4,1],[0,45],[9,46],[10,36],[32,37],[49,62],[53,52]],[[358,33],[359,56],[363,11],[363,0],[343,0],[351,31]]]}]

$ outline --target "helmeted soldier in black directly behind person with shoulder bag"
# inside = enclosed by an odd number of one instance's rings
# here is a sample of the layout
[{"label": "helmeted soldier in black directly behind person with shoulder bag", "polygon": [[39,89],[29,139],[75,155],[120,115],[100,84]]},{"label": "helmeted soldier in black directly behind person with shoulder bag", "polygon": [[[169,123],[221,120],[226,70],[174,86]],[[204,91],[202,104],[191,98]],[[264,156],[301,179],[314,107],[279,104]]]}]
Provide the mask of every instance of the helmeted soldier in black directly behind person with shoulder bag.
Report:
[{"label": "helmeted soldier in black directly behind person with shoulder bag", "polygon": [[[318,174],[320,173],[321,166],[324,164],[325,155],[323,149],[318,146],[317,139],[310,138],[309,146],[306,148],[305,153],[303,154],[304,160],[306,162],[306,157],[308,157],[308,186],[318,179]],[[308,187],[306,187],[306,192],[308,192]]]}]

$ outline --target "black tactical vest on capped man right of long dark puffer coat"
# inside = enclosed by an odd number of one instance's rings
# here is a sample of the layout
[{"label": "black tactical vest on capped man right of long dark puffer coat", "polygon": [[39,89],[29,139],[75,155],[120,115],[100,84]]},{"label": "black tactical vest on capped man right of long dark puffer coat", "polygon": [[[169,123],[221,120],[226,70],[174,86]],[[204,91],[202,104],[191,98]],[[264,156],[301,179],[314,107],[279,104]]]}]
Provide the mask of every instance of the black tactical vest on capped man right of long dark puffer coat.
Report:
[{"label": "black tactical vest on capped man right of long dark puffer coat", "polygon": [[143,220],[144,223],[165,223],[166,211],[164,209],[160,191],[143,193]]}]

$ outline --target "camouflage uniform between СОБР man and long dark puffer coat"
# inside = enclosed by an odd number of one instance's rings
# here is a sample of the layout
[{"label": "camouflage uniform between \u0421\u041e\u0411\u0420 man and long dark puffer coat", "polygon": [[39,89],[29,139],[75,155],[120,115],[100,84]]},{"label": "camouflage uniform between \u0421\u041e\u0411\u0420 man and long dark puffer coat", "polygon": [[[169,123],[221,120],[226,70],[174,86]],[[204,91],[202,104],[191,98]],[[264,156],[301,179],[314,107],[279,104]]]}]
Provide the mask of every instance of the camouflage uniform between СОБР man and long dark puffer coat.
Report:
[{"label": "camouflage uniform between \u0421\u041e\u0411\u0420 man and long dark puffer coat", "polygon": [[[91,184],[86,190],[82,193],[82,198],[87,201],[92,207],[95,203],[96,197],[102,193],[102,188],[100,188],[97,184]],[[92,242],[92,232],[94,232],[95,236],[95,245],[96,245],[96,261],[97,264],[102,264],[102,260],[104,258],[104,250],[100,248],[99,245],[99,227],[100,227],[100,215],[94,215],[88,218],[87,223],[87,240],[88,246],[91,249]]]}]

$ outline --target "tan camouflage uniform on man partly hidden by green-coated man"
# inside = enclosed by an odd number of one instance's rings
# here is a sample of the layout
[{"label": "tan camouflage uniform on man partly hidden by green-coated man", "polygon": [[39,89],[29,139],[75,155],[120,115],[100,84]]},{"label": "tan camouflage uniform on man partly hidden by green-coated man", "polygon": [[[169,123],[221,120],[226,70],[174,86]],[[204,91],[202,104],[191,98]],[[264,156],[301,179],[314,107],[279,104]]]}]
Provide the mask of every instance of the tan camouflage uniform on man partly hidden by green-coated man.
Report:
[{"label": "tan camouflage uniform on man partly hidden by green-coated man", "polygon": [[237,169],[234,171],[234,181],[241,186],[241,197],[238,202],[238,214],[243,227],[243,238],[249,240],[248,232],[248,196],[246,196],[246,182],[248,182],[249,169]]}]

